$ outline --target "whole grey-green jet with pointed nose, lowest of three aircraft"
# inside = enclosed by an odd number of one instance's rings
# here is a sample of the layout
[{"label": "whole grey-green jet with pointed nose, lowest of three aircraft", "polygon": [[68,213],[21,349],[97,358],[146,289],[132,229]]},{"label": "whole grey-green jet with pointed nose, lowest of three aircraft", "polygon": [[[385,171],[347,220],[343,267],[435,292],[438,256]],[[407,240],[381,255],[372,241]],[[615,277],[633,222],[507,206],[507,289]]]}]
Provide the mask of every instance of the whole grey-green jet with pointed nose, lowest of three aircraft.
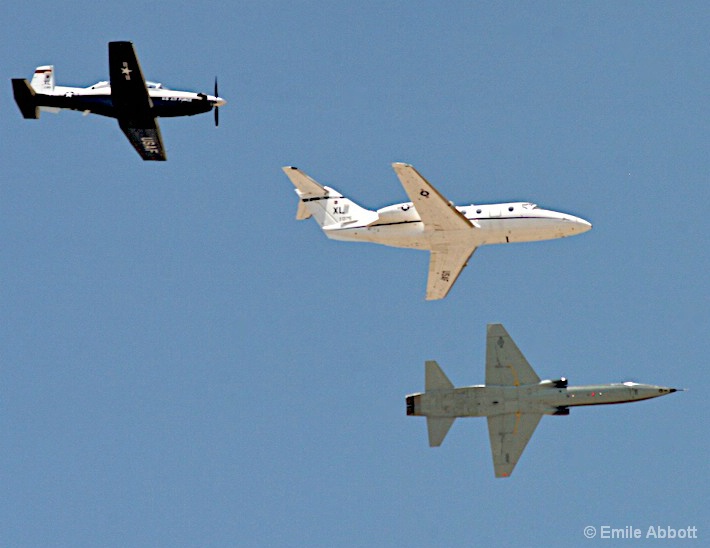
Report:
[{"label": "whole grey-green jet with pointed nose, lowest of three aircraft", "polygon": [[407,415],[427,418],[429,445],[444,441],[456,417],[487,417],[497,478],[513,473],[543,415],[569,415],[575,405],[626,403],[676,392],[625,382],[567,386],[567,379],[541,381],[500,324],[489,324],[486,384],[454,388],[435,361],[425,364],[425,392],[407,396]]}]

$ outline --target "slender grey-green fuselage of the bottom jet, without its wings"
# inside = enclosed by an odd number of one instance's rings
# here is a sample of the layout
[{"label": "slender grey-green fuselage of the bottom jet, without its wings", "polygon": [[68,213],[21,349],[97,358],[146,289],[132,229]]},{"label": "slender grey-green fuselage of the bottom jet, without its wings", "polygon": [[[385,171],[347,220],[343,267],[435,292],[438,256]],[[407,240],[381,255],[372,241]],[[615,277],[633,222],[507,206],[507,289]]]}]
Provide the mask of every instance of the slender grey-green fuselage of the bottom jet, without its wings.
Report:
[{"label": "slender grey-green fuselage of the bottom jet, without its wings", "polygon": [[[409,396],[412,415],[484,417],[504,413],[566,414],[568,407],[627,403],[675,392],[674,388],[627,382],[556,387],[555,381],[524,386],[468,386]],[[410,399],[411,398],[411,399]]]}]

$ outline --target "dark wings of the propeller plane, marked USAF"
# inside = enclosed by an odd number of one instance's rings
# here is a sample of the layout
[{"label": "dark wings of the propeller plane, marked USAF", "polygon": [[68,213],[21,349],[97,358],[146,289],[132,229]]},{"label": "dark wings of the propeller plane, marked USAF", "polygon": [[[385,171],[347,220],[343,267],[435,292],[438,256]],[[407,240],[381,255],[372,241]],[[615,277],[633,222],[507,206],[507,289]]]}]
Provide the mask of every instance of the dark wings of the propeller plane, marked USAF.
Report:
[{"label": "dark wings of the propeller plane, marked USAF", "polygon": [[141,158],[166,160],[160,127],[153,116],[153,102],[148,95],[133,44],[109,42],[108,64],[111,101],[119,127]]}]

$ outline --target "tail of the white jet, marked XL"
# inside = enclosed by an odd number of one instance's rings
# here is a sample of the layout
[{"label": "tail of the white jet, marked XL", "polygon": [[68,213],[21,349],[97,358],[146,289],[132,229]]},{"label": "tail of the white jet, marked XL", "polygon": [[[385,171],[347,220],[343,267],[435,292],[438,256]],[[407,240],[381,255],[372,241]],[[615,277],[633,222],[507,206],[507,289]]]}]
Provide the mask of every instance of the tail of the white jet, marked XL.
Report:
[{"label": "tail of the white jet, marked XL", "polygon": [[284,173],[296,187],[299,197],[296,219],[313,217],[323,230],[367,226],[379,219],[375,211],[360,207],[337,190],[322,186],[297,167],[287,166]]}]

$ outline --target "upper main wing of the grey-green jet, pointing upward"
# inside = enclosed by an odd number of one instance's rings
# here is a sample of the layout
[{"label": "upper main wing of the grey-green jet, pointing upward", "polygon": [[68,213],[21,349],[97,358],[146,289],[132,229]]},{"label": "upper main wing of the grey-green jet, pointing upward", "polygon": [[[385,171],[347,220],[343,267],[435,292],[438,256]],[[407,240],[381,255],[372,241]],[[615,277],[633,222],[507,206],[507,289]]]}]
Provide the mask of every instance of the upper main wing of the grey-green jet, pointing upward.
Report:
[{"label": "upper main wing of the grey-green jet, pointing upward", "polygon": [[486,334],[486,386],[537,384],[540,377],[518,349],[505,328],[488,324]]}]

